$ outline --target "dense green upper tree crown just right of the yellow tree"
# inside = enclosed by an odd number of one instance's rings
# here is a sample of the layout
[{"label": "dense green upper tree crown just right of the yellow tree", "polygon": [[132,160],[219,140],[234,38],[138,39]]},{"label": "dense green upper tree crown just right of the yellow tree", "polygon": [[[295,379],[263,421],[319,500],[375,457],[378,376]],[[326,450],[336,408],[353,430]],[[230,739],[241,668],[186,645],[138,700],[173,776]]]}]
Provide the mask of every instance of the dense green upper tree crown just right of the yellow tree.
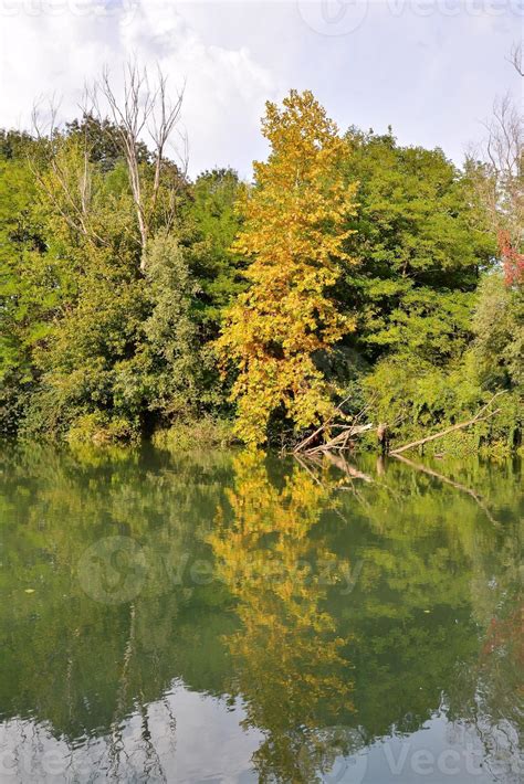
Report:
[{"label": "dense green upper tree crown just right of the yellow tree", "polygon": [[441,150],[399,147],[390,133],[352,129],[347,138],[347,177],[359,182],[349,236],[359,264],[344,280],[356,346],[369,361],[400,351],[446,362],[471,340],[479,271],[494,242],[476,227],[470,187]]}]

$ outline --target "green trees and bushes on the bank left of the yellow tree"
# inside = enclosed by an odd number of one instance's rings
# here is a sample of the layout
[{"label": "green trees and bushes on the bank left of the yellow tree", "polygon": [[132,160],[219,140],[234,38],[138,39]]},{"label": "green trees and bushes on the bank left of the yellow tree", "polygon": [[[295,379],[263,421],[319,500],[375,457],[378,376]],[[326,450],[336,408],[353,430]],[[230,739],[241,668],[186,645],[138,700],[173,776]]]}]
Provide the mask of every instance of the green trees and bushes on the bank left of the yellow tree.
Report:
[{"label": "green trees and bushes on the bank left of the yellow tree", "polygon": [[[178,416],[218,409],[223,401],[214,356],[207,348],[218,328],[207,333],[201,318],[202,307],[214,308],[208,320],[218,318],[220,296],[206,303],[196,275],[202,280],[207,276],[209,284],[217,257],[227,277],[223,242],[230,243],[234,230],[229,236],[226,231],[222,245],[219,236],[214,244],[206,240],[208,268],[202,272],[195,264],[198,251],[192,253],[185,244],[195,232],[189,203],[186,212],[180,211],[177,237],[161,227],[159,198],[158,218],[151,220],[157,230],[142,271],[127,174],[109,137],[104,125],[84,118],[52,141],[24,140],[19,158],[12,150],[21,142],[4,144],[9,150],[9,158],[0,161],[6,173],[0,187],[4,433],[66,435],[72,428],[72,438],[92,433],[98,439],[99,425],[104,432],[106,427],[117,432],[118,438],[126,433],[134,438],[157,423],[166,426]],[[147,168],[147,156],[140,166]],[[84,176],[88,193],[82,191]],[[234,177],[223,178],[234,190]],[[231,193],[227,199],[232,200]]]}]

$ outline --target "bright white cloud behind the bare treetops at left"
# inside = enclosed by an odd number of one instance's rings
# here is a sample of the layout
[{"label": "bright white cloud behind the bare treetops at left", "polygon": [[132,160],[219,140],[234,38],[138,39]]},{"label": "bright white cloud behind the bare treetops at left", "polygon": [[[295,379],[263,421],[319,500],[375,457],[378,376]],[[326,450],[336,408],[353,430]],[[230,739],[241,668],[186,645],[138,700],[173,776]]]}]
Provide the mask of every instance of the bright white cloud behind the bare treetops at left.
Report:
[{"label": "bright white cloud behind the bare treetops at left", "polygon": [[55,13],[49,7],[46,12],[46,4],[33,14],[28,8],[22,0],[19,11],[2,20],[0,125],[27,127],[35,97],[53,94],[61,98],[61,117],[71,118],[85,82],[103,65],[118,83],[126,60],[136,57],[158,63],[175,88],[186,83],[190,172],[234,165],[249,174],[253,153],[263,153],[260,117],[275,84],[245,46],[206,44],[172,2],[109,13],[92,6],[92,13],[82,14],[74,2],[59,3]]}]

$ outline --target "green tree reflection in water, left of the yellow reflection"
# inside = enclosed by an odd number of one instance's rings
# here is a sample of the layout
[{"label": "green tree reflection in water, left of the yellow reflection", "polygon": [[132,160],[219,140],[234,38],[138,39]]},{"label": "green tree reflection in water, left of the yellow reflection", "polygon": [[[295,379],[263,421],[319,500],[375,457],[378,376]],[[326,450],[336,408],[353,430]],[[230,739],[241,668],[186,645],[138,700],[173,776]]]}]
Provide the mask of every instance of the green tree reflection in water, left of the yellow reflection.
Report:
[{"label": "green tree reflection in water, left of the yellow reflection", "polygon": [[[71,754],[93,740],[99,756],[90,765],[125,778],[137,713],[134,760],[158,773],[147,704],[163,700],[180,669],[196,688],[223,693],[219,632],[234,625],[227,590],[175,578],[179,563],[209,559],[199,529],[211,525],[203,510],[216,508],[229,473],[228,459],[179,464],[129,451],[72,455],[32,445],[0,456],[0,720],[35,718],[24,744],[34,743],[35,759],[48,742],[42,732]],[[122,603],[96,601],[78,579],[86,551],[97,548],[103,561],[112,537],[147,559],[137,595]],[[171,734],[167,700],[164,714]]]}]

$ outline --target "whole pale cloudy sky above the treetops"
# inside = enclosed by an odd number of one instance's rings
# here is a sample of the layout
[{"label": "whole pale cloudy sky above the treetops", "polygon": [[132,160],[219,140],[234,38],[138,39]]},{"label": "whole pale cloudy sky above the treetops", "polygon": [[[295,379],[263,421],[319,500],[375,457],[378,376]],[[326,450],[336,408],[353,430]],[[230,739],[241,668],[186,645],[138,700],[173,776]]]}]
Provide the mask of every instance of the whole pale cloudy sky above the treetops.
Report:
[{"label": "whole pale cloudy sky above the treetops", "polygon": [[[497,96],[522,100],[507,62],[524,0],[0,0],[0,126],[35,99],[77,114],[84,85],[135,57],[182,84],[189,173],[266,156],[265,100],[311,89],[340,130],[392,126],[458,165]],[[42,103],[44,106],[44,103]],[[175,155],[175,150],[172,150]]]}]

